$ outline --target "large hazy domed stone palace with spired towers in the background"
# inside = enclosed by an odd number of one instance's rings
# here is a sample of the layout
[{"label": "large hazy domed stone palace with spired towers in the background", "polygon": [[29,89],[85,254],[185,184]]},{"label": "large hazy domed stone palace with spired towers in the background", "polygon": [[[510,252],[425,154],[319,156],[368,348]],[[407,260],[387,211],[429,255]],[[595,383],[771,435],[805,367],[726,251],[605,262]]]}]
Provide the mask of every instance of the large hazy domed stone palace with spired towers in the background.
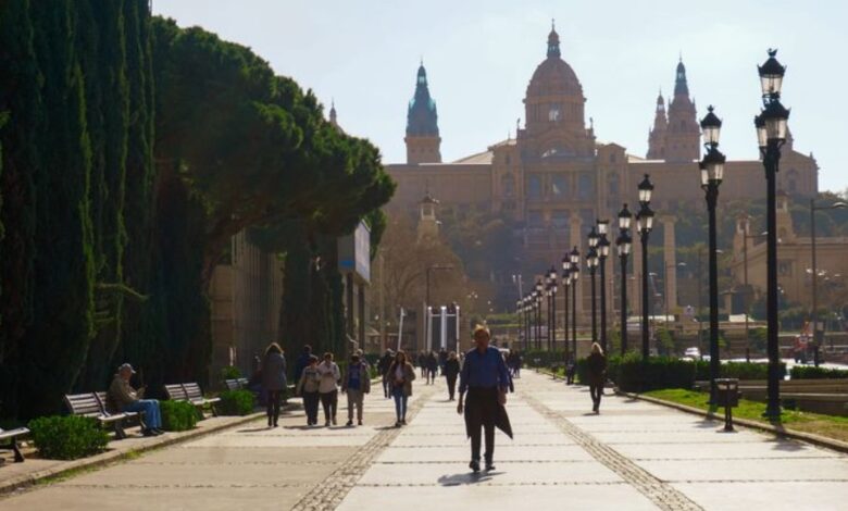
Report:
[{"label": "large hazy domed stone palace with spired towers in the background", "polygon": [[[697,172],[701,158],[698,112],[689,96],[683,62],[676,67],[674,96],[668,104],[662,96],[657,98],[644,158],[618,144],[598,141],[591,123],[586,122],[585,104],[583,86],[574,68],[562,59],[560,37],[552,28],[545,59],[527,85],[524,126],[514,138],[446,163],[439,151],[436,103],[422,64],[408,110],[407,162],[387,165],[398,183],[389,210],[417,214],[428,192],[441,210],[502,217],[514,227],[522,265],[540,272],[573,246],[585,254],[586,234],[599,217],[612,221],[614,227],[615,213],[624,202],[631,203],[635,213],[636,185],[645,174],[650,174],[656,185],[651,208],[658,213],[657,228],[673,222],[682,204],[703,204]],[[818,191],[815,160],[796,152],[791,139],[783,149],[778,188],[800,198],[813,197]],[[728,161],[721,195],[722,199],[764,198],[762,163]],[[614,242],[618,230],[611,230]],[[673,236],[668,238],[666,245],[673,247]],[[634,250],[636,257],[637,252]],[[673,258],[673,253],[666,250],[666,258]],[[609,263],[608,270],[610,266],[618,264]],[[509,277],[492,275],[496,279]]]}]

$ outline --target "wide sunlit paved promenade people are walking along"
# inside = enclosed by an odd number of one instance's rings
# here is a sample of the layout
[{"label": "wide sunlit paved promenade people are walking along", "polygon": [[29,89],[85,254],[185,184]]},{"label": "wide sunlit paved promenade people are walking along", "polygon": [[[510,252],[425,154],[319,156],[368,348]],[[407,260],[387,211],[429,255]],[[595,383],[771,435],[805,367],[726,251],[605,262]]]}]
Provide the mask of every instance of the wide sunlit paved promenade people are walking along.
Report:
[{"label": "wide sunlit paved promenade people are walking along", "polygon": [[472,475],[442,385],[416,385],[401,429],[390,427],[391,401],[375,390],[362,427],[307,429],[302,413],[277,429],[257,422],[2,499],[0,510],[848,506],[846,456],[752,431],[720,433],[716,422],[618,397],[589,414],[583,387],[529,371],[508,404],[515,439],[498,433],[497,470]]}]

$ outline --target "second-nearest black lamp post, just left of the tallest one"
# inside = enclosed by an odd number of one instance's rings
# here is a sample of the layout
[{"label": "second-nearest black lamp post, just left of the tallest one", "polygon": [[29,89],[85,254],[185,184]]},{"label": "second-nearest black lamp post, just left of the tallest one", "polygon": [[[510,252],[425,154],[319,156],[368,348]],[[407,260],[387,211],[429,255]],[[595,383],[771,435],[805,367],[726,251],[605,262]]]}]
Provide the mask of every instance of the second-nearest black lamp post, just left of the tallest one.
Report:
[{"label": "second-nearest black lamp post, just left of the tallest one", "polygon": [[719,151],[719,137],[722,121],[713,112],[712,105],[701,120],[703,147],[707,149],[699,167],[701,188],[707,197],[707,209],[710,214],[710,403],[715,403],[715,379],[719,377],[721,359],[719,358],[719,257],[716,253],[715,205],[719,202],[719,186],[724,175],[726,158]]}]

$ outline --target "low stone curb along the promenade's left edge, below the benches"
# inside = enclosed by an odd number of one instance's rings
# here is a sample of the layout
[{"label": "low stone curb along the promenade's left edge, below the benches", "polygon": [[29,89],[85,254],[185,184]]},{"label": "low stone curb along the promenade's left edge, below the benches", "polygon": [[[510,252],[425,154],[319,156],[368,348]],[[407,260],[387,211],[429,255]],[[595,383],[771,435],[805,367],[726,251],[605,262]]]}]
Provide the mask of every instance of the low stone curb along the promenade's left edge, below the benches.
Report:
[{"label": "low stone curb along the promenade's left edge, below the benches", "polygon": [[[282,409],[280,411],[292,410],[298,407],[290,404]],[[188,440],[196,440],[207,435],[212,435],[214,433],[220,433],[224,429],[229,429],[230,427],[241,426],[244,424],[253,422],[263,416],[265,416],[265,412],[254,412],[251,413],[250,415],[245,415],[242,417],[239,417],[238,420],[228,422],[226,424],[216,424],[214,426],[210,426],[209,428],[192,429],[189,432],[179,432],[177,433],[177,435],[179,436],[169,436],[167,438],[162,438],[161,441],[145,444],[142,446],[139,446],[136,449],[130,449],[130,450],[113,449],[107,452],[101,452],[100,454],[95,454],[92,457],[72,460],[59,466],[53,466],[41,471],[36,471],[28,474],[22,474],[15,477],[11,477],[7,481],[0,482],[0,498],[5,497],[9,494],[12,494],[13,491],[17,491],[21,489],[35,486],[36,484],[38,484],[39,482],[46,478],[61,477],[62,475],[65,475],[71,472],[76,472],[79,470],[101,469],[107,465],[111,465],[113,463],[129,459],[130,457],[135,457],[140,452],[147,452],[163,447],[170,447]]]}]

